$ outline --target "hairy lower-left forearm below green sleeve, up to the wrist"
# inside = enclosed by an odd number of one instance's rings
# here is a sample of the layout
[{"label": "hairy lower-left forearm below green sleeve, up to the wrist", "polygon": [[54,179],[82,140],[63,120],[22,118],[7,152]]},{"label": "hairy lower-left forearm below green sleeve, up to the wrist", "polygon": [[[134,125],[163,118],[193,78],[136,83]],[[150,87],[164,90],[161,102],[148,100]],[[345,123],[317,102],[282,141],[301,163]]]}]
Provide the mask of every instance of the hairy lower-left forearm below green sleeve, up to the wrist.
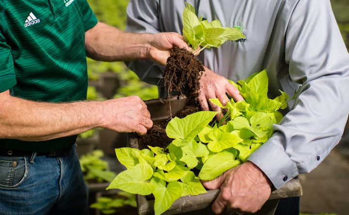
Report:
[{"label": "hairy lower-left forearm below green sleeve, up to the wrist", "polygon": [[48,103],[0,93],[0,139],[43,141],[101,126],[98,101]]}]

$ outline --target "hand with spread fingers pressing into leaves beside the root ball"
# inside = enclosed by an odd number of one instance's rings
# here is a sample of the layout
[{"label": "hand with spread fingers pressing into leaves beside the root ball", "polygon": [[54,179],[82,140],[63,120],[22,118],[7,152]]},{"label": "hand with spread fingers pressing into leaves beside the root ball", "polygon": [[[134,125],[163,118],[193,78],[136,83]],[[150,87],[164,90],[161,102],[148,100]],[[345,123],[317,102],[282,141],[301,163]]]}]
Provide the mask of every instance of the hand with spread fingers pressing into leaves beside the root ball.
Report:
[{"label": "hand with spread fingers pressing into leaves beside the root ball", "polygon": [[[227,103],[228,97],[226,93],[231,96],[235,101],[243,100],[240,92],[237,88],[231,85],[226,78],[218,75],[208,68],[205,68],[205,72],[200,79],[200,90],[199,103],[203,111],[208,111],[208,99],[218,98],[222,105]],[[210,103],[213,111],[221,112],[221,108]]]}]

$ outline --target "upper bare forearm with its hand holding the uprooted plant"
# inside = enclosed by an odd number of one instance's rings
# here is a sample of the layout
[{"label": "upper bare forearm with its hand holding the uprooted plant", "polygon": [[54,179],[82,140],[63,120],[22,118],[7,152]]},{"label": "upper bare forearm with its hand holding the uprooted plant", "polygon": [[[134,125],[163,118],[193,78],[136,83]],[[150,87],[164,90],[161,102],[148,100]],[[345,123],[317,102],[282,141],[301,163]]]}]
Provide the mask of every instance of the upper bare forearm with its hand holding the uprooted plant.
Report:
[{"label": "upper bare forearm with its hand holding the uprooted plant", "polygon": [[102,61],[152,59],[162,65],[174,47],[187,48],[183,36],[174,32],[128,33],[98,22],[85,32],[87,57]]}]

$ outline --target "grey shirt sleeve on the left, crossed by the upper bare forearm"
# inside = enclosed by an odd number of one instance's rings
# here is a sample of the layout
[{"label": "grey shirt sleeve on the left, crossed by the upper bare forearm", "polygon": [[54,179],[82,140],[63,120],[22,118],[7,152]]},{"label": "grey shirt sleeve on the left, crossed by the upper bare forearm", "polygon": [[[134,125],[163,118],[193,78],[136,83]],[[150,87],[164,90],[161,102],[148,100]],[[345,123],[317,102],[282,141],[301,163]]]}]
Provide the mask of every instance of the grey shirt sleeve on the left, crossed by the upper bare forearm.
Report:
[{"label": "grey shirt sleeve on the left, crossed by the upper bare forearm", "polygon": [[[158,0],[130,0],[127,5],[125,31],[136,33],[159,33]],[[162,77],[164,67],[152,60],[125,62],[140,79],[156,85]]]}]

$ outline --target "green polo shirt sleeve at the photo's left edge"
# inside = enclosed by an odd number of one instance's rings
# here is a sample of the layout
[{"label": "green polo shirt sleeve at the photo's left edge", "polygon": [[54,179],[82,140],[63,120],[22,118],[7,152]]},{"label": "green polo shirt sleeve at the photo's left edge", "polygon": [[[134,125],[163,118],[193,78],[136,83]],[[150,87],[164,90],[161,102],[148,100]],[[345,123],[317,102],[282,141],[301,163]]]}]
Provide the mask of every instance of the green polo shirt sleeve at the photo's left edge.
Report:
[{"label": "green polo shirt sleeve at the photo's left edge", "polygon": [[12,88],[17,83],[11,47],[6,43],[2,32],[0,17],[0,93]]}]

